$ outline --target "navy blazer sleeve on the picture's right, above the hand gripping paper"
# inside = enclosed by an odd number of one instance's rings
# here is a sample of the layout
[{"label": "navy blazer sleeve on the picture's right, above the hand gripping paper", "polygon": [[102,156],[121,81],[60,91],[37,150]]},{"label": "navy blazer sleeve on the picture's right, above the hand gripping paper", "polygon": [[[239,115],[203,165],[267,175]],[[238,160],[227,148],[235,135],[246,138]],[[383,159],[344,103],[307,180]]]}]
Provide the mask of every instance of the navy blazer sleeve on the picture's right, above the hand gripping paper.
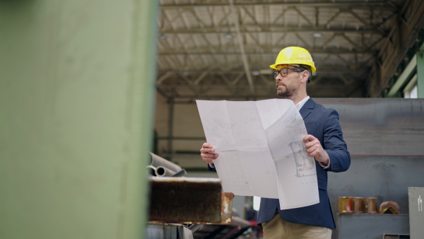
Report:
[{"label": "navy blazer sleeve on the picture's right, above the hand gripping paper", "polygon": [[333,172],[343,172],[351,165],[351,154],[348,151],[346,142],[343,140],[340,122],[338,122],[338,112],[334,109],[327,110],[324,121],[324,142],[323,147],[329,154],[330,167],[326,170]]}]

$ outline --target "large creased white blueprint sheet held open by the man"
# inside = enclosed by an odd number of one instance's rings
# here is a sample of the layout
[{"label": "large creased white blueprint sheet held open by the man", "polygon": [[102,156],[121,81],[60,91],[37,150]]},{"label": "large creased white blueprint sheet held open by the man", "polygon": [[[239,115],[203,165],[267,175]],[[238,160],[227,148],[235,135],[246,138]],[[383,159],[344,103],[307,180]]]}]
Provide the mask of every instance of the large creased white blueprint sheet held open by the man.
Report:
[{"label": "large creased white blueprint sheet held open by the man", "polygon": [[281,209],[319,203],[305,123],[292,100],[196,100],[224,192],[280,199]]}]

